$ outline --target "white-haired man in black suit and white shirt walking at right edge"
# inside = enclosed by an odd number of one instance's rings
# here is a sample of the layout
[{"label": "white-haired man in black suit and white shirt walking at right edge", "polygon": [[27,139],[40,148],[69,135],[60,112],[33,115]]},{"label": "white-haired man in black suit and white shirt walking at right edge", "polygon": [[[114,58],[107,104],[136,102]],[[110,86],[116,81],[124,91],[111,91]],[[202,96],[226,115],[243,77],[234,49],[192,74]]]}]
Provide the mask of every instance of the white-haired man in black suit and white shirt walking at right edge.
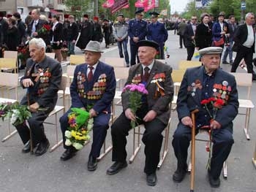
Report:
[{"label": "white-haired man in black suit and white shirt walking at right edge", "polygon": [[248,73],[252,73],[252,80],[256,80],[256,74],[253,72],[252,58],[255,53],[255,29],[252,25],[255,23],[255,15],[248,12],[245,15],[245,23],[238,26],[234,34],[233,51],[236,52],[236,58],[232,65],[231,72],[236,72],[242,58],[246,63]]}]

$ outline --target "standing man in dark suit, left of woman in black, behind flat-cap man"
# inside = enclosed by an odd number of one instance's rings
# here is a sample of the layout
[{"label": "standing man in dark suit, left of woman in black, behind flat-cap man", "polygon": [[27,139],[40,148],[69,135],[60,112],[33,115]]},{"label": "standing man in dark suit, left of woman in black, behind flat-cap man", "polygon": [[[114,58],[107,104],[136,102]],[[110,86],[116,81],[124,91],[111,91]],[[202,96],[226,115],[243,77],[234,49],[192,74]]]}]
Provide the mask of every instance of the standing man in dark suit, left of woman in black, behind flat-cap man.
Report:
[{"label": "standing man in dark suit, left of woman in black, behind flat-cap man", "polygon": [[197,17],[192,16],[191,22],[184,31],[184,45],[187,48],[187,61],[191,61],[195,52],[195,30],[197,29]]}]

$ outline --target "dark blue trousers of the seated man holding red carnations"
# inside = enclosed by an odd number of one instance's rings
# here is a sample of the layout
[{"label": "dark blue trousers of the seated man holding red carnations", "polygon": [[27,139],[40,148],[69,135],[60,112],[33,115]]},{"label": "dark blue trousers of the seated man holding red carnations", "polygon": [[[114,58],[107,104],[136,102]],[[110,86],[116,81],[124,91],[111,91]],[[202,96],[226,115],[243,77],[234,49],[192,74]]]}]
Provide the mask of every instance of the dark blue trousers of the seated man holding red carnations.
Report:
[{"label": "dark blue trousers of the seated man holding red carnations", "polygon": [[[178,128],[173,134],[173,149],[178,160],[178,168],[181,169],[187,166],[187,149],[191,140],[191,131],[192,128],[178,123]],[[217,179],[222,172],[223,163],[230,154],[234,143],[231,128],[215,129],[213,132],[213,143],[211,175],[214,179]]]}]

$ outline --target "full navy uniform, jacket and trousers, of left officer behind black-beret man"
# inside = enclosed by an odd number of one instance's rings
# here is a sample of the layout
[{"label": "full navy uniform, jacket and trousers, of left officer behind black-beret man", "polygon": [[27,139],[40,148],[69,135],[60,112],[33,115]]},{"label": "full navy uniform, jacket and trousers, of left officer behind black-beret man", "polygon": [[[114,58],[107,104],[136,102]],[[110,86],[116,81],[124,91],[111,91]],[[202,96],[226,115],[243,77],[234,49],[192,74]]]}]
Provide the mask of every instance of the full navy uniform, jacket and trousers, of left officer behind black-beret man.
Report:
[{"label": "full navy uniform, jacket and trousers, of left officer behind black-beret man", "polygon": [[[145,20],[133,19],[129,21],[128,36],[129,46],[131,50],[131,66],[136,64],[136,55],[138,54],[138,47],[136,42],[133,41],[132,37],[138,37],[139,41],[146,38],[147,34],[147,23]],[[137,57],[138,63],[140,63]]]}]

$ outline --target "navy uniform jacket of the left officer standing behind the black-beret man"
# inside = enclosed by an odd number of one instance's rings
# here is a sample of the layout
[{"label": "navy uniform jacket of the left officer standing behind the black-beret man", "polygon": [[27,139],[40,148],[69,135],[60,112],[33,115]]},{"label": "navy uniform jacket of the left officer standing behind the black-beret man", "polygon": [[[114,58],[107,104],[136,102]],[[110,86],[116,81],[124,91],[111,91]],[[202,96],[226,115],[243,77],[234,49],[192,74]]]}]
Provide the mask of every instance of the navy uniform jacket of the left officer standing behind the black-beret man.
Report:
[{"label": "navy uniform jacket of the left officer standing behind the black-beret man", "polygon": [[133,37],[139,37],[140,40],[144,40],[147,34],[147,23],[145,20],[133,19],[129,21],[128,36],[130,45],[136,45],[133,41]]}]

